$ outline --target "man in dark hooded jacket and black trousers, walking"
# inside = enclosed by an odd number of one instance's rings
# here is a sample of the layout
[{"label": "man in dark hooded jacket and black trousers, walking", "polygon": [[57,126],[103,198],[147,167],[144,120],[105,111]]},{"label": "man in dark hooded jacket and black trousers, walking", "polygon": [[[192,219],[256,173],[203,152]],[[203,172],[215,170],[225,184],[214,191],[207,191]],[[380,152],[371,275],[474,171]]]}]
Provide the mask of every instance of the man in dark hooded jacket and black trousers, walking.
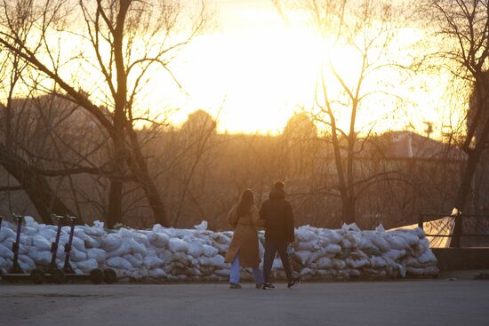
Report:
[{"label": "man in dark hooded jacket and black trousers, walking", "polygon": [[277,251],[287,275],[288,287],[292,288],[299,282],[293,278],[287,253],[288,243],[294,242],[294,233],[292,206],[285,200],[284,187],[284,182],[277,181],[270,191],[269,199],[261,204],[260,218],[265,220],[265,259],[263,261],[265,284],[263,289],[275,288],[269,276]]}]

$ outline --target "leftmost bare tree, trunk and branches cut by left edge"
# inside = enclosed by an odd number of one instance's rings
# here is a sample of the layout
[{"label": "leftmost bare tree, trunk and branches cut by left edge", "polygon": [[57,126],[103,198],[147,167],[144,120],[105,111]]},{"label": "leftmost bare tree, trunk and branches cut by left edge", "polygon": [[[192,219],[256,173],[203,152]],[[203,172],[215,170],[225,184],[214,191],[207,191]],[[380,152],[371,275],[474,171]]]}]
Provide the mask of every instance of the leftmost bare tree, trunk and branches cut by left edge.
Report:
[{"label": "leftmost bare tree, trunk and branches cut by left edge", "polygon": [[[8,13],[8,16],[14,16],[11,20],[6,20],[5,23],[15,30],[15,37],[22,43],[28,42],[28,37],[35,28],[34,21],[28,19],[28,8],[25,7],[26,5],[28,6],[26,1],[16,3],[13,6],[7,6],[5,2],[1,5],[2,10]],[[40,44],[35,43],[33,46],[39,47]],[[23,190],[44,223],[51,223],[51,214],[53,212],[62,215],[72,213],[60,199],[55,189],[52,189],[44,175],[37,171],[36,166],[28,162],[25,157],[25,151],[21,150],[20,144],[26,137],[19,131],[19,121],[15,122],[13,111],[15,109],[15,95],[21,87],[26,89],[25,79],[27,78],[26,75],[28,75],[28,65],[16,52],[4,51],[1,54],[3,55],[3,64],[0,70],[4,75],[2,78],[2,91],[5,97],[0,104],[3,114],[1,125],[4,131],[2,137],[0,137],[0,164],[19,185],[7,185],[4,187],[4,190],[8,192],[10,211],[19,209],[18,207],[12,207],[11,191]],[[28,96],[31,90],[27,88],[25,95]]]}]

